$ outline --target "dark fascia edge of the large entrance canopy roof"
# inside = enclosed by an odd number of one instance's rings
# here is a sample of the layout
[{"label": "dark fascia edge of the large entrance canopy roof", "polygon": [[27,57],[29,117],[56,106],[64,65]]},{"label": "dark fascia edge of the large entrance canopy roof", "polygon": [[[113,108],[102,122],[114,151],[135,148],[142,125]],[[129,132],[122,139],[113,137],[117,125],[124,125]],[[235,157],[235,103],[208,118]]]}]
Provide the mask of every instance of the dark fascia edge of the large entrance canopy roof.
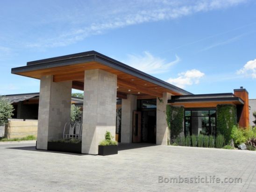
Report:
[{"label": "dark fascia edge of the large entrance canopy roof", "polygon": [[123,64],[119,61],[116,61],[110,57],[107,57],[103,54],[100,54],[96,51],[87,51],[67,56],[61,56],[61,57],[53,57],[48,59],[42,59],[37,61],[31,61],[27,63],[27,66],[23,67],[16,67],[12,68],[12,73],[17,72],[24,72],[24,71],[32,71],[32,70],[39,70],[39,69],[45,69],[45,68],[51,68],[51,67],[57,67],[57,66],[65,66],[70,64],[80,64],[80,63],[86,63],[90,61],[96,61],[101,64],[107,65],[109,67],[112,67],[116,70],[128,73],[130,75],[133,75],[137,78],[142,78],[143,80],[149,81],[150,83],[154,83],[156,85],[162,86],[166,89],[170,89],[174,92],[178,92],[180,94],[192,94],[191,92],[187,92],[175,85],[171,85],[163,80],[160,80],[158,78],[155,78],[147,73],[144,73],[142,71],[136,70],[133,67],[130,67],[126,64]]}]

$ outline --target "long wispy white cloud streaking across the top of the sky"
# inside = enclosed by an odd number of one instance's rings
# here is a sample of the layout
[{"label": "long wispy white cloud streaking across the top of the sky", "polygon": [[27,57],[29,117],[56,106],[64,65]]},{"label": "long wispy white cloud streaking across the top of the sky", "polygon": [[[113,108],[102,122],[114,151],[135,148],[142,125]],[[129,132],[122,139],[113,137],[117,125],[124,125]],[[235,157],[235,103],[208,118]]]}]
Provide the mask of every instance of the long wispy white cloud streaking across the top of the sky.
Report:
[{"label": "long wispy white cloud streaking across the top of the sky", "polygon": [[[66,46],[84,40],[88,36],[105,33],[115,28],[123,28],[145,22],[163,21],[177,19],[198,12],[207,12],[239,5],[247,0],[152,0],[150,1],[120,1],[112,2],[113,6],[105,5],[94,7],[94,12],[102,13],[101,18],[91,18],[93,23],[84,21],[84,10],[76,7],[76,14],[68,14],[70,20],[79,22],[79,26],[72,26],[71,30],[64,30],[62,34],[38,39],[36,42],[27,43],[27,47],[59,47]],[[97,10],[99,9],[99,10]],[[87,13],[90,15],[90,12]],[[63,15],[62,15],[63,16]],[[99,17],[99,15],[97,15]],[[53,20],[55,21],[55,20]],[[63,21],[63,22],[64,22]],[[84,22],[82,22],[84,21]],[[75,22],[74,22],[75,23]],[[68,28],[68,27],[67,27]]]}]

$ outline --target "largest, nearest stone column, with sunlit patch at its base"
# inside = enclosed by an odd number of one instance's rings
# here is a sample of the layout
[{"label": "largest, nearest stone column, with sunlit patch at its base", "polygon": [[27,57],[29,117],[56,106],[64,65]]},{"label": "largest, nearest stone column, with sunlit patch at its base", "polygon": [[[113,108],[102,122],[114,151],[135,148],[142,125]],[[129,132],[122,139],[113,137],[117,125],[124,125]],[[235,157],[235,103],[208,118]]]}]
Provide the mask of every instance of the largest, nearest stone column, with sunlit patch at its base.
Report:
[{"label": "largest, nearest stone column, with sunlit patch at its base", "polygon": [[117,76],[88,70],[84,86],[82,153],[96,155],[106,131],[115,135]]}]

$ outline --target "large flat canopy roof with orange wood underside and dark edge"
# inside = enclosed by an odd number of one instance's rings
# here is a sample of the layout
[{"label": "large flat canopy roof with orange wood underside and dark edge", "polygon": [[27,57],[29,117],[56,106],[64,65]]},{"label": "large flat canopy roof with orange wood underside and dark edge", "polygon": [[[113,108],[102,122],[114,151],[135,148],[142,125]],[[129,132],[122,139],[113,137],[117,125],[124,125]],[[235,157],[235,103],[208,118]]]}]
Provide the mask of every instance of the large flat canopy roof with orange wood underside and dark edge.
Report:
[{"label": "large flat canopy roof with orange wood underside and dark edge", "polygon": [[84,71],[92,69],[116,74],[118,95],[121,97],[127,94],[162,97],[163,92],[170,92],[173,95],[192,94],[96,51],[31,61],[27,66],[12,68],[11,72],[37,79],[43,75],[53,75],[54,82],[72,80],[72,88],[83,90]]}]

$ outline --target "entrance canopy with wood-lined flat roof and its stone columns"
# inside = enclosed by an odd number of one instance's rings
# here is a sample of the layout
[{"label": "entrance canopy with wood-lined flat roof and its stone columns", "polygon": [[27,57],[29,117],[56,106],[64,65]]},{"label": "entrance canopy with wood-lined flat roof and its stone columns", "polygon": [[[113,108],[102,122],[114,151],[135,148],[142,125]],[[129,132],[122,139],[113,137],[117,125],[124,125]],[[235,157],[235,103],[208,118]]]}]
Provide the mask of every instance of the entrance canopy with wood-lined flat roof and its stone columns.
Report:
[{"label": "entrance canopy with wood-lined flat roof and its stone columns", "polygon": [[[168,99],[191,94],[96,51],[28,62],[12,73],[40,79],[37,149],[47,150],[50,140],[62,138],[70,119],[72,88],[84,91],[81,152],[93,155],[106,131],[115,135],[116,98],[121,98],[121,142],[141,142],[143,111],[155,118],[149,121],[156,124],[152,141],[167,144]],[[156,101],[155,114],[138,111],[138,106],[150,108],[150,100]]]}]

